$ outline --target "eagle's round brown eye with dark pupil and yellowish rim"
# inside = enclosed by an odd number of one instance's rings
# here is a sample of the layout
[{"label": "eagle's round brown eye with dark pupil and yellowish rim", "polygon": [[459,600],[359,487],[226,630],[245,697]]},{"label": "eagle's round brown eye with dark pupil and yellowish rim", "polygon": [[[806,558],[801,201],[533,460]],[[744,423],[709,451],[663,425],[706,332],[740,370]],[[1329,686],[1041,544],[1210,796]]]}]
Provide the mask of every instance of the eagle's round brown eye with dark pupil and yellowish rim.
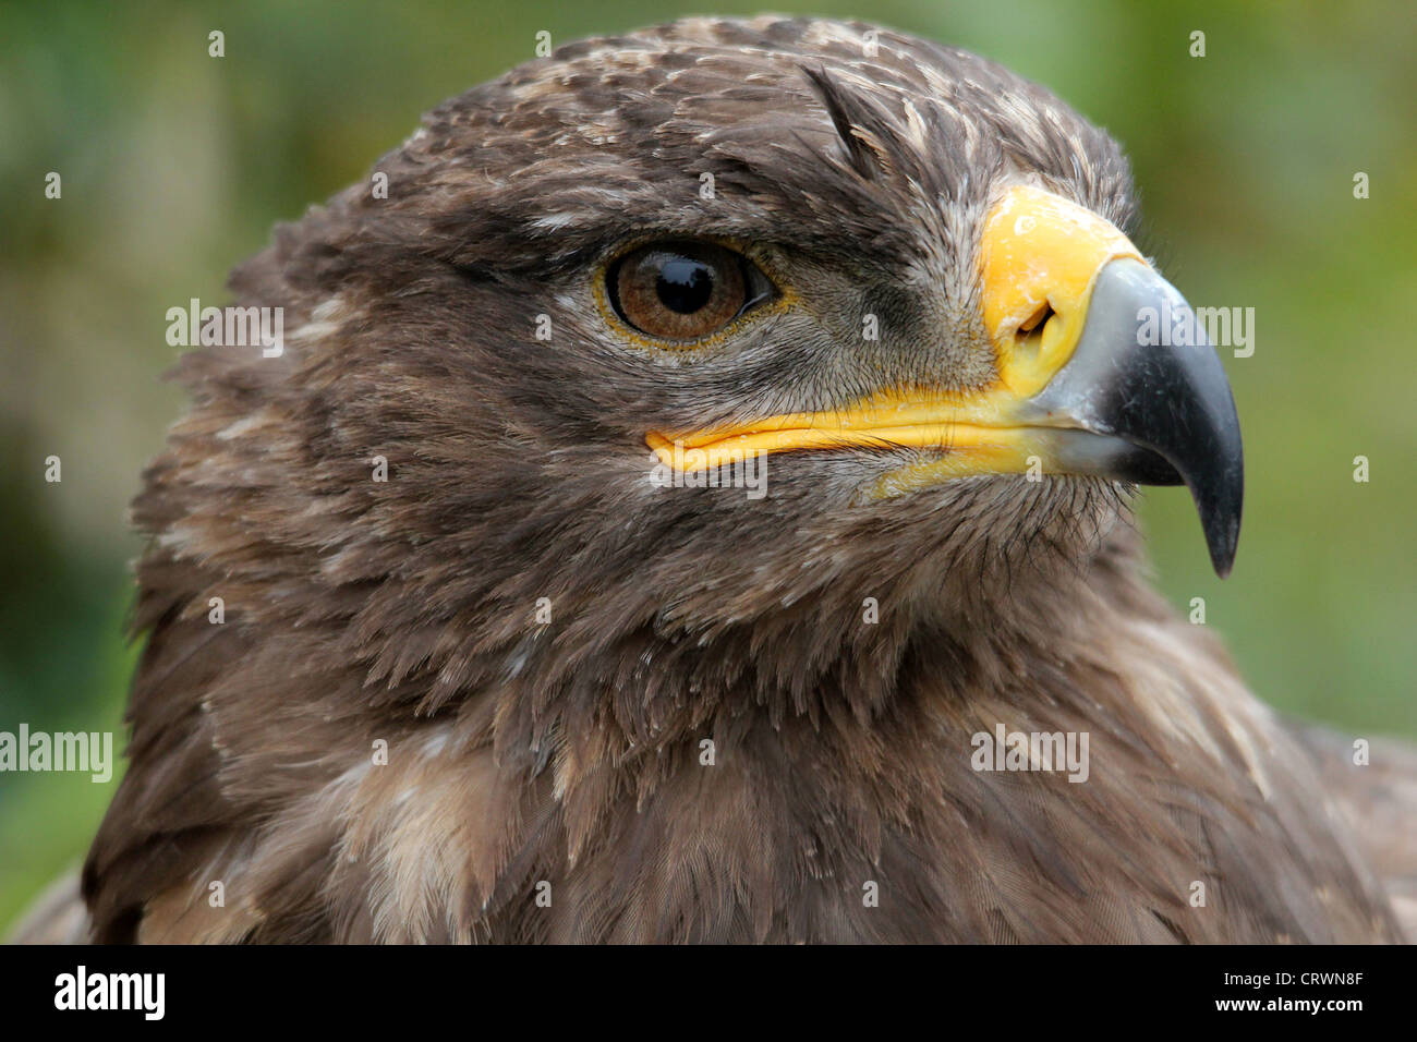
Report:
[{"label": "eagle's round brown eye with dark pupil and yellowish rim", "polygon": [[713,242],[655,242],[606,272],[615,313],[662,340],[697,340],[772,295],[748,258]]}]

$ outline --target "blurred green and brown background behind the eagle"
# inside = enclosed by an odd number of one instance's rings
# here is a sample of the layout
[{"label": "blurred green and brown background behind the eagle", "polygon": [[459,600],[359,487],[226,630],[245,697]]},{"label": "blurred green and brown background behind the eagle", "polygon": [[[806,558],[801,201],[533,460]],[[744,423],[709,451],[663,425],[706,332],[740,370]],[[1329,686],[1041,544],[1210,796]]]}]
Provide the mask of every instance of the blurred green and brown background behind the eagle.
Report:
[{"label": "blurred green and brown background behind the eagle", "polygon": [[[555,44],[718,0],[65,3],[0,7],[0,730],[120,730],[126,502],[177,415],[164,312],[366,174],[421,112]],[[1053,88],[1128,149],[1142,248],[1197,306],[1255,309],[1223,352],[1248,493],[1233,577],[1180,489],[1142,509],[1159,581],[1204,597],[1254,689],[1417,736],[1417,75],[1390,4],[836,3]],[[225,33],[227,55],[207,55]],[[1206,57],[1189,57],[1193,30]],[[44,177],[62,176],[62,198]],[[1355,200],[1366,172],[1372,197]],[[64,481],[44,482],[60,455]],[[1353,456],[1372,481],[1355,483]],[[1403,468],[1408,468],[1404,471]],[[119,739],[120,740],[120,739]],[[116,777],[115,777],[116,781]],[[0,774],[0,924],[77,862],[112,792]]]}]

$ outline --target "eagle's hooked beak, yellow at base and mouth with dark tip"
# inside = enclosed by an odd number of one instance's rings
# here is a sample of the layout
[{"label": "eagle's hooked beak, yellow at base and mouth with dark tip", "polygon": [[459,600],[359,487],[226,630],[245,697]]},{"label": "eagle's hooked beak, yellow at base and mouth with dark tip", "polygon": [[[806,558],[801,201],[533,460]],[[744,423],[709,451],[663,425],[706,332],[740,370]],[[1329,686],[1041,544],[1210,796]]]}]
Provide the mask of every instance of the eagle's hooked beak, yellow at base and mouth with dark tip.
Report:
[{"label": "eagle's hooked beak, yellow at base and mouth with dark tip", "polygon": [[1074,474],[1185,483],[1221,577],[1240,539],[1244,454],[1230,384],[1185,298],[1114,225],[1020,186],[993,207],[982,242],[983,319],[998,380],[983,388],[890,388],[845,408],[669,437],[667,466],[745,455],[901,445],[942,449],[881,479],[898,495],[979,474]]}]

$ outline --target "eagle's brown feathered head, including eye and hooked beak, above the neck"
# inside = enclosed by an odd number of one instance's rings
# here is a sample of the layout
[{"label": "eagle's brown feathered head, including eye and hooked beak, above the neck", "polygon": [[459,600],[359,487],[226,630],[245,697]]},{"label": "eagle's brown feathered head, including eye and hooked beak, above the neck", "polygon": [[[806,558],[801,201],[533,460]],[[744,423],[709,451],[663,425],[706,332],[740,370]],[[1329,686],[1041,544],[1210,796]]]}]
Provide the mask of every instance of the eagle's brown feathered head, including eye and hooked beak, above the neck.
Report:
[{"label": "eagle's brown feathered head, including eye and hooked beak, above the neck", "polygon": [[635,698],[673,663],[674,705],[801,692],[843,642],[888,671],[921,625],[1036,624],[1134,482],[1187,483],[1226,571],[1234,405],[1206,343],[1138,343],[1186,305],[1135,218],[1104,132],[964,51],[775,18],[563,47],[237,271],[288,349],[184,363],[188,465],[140,516],[188,499],[167,553],[339,621],[425,709],[592,661]]}]

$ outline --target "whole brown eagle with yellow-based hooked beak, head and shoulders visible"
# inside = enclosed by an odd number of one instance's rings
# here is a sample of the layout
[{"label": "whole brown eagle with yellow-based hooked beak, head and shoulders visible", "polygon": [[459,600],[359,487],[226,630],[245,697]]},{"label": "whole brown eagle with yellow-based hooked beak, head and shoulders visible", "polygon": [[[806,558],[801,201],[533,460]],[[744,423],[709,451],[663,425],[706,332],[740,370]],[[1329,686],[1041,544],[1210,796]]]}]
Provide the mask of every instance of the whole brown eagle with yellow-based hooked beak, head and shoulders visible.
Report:
[{"label": "whole brown eagle with yellow-based hooked beak, head and shoulders visible", "polygon": [[1224,574],[1243,461],[1216,352],[1138,335],[1186,303],[1136,223],[1107,133],[859,23],[444,103],[235,269],[278,357],[179,366],[50,933],[1399,940],[1411,756],[1288,726],[1148,584],[1135,486]]}]

